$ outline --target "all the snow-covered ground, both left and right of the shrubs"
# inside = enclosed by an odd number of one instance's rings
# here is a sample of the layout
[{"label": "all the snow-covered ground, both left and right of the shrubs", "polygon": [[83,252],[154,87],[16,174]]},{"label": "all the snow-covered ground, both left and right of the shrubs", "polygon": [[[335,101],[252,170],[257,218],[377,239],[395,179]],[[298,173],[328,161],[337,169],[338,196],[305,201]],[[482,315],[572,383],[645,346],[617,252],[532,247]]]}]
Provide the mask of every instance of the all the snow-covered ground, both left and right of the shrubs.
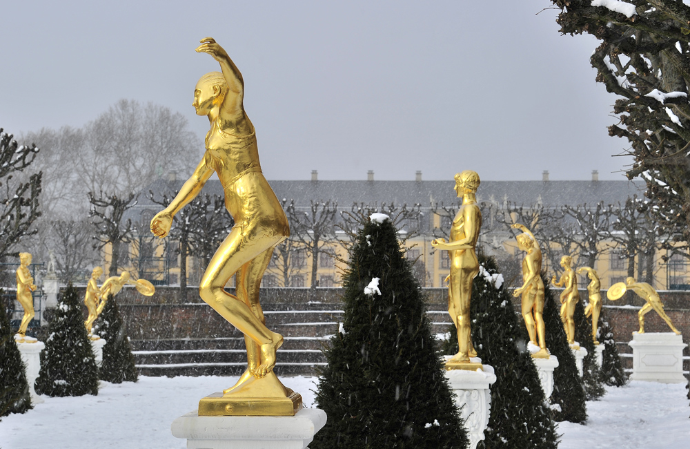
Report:
[{"label": "all the snow-covered ground, both left and right of the shrubs", "polygon": [[[0,421],[2,449],[174,449],[170,423],[197,408],[201,397],[228,388],[237,378],[140,377],[137,383],[104,383],[98,396],[46,397],[26,414]],[[283,383],[314,401],[315,378],[283,377]],[[560,449],[690,447],[690,406],[684,385],[631,382],[607,388],[587,403],[586,426],[560,423]]]}]

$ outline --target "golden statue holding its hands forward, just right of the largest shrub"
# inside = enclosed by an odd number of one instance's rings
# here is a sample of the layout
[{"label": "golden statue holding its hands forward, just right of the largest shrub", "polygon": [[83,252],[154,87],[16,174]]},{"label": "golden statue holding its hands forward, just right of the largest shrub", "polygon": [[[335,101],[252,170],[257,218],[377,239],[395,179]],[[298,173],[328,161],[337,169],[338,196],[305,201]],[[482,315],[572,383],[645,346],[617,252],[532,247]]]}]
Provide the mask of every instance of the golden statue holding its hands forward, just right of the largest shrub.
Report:
[{"label": "golden statue holding its hands forward, just right of the largest shrub", "polygon": [[435,239],[431,246],[448,251],[451,274],[446,278],[448,286],[448,313],[457,329],[459,351],[446,363],[446,370],[477,370],[482,363],[471,363],[470,357],[477,352],[472,345],[470,329],[470,300],[472,280],[479,273],[479,260],[475,246],[482,227],[482,212],[477,206],[477,187],[480,179],[476,172],[465,170],[455,175],[455,193],[462,197],[451,226],[450,241]]}]

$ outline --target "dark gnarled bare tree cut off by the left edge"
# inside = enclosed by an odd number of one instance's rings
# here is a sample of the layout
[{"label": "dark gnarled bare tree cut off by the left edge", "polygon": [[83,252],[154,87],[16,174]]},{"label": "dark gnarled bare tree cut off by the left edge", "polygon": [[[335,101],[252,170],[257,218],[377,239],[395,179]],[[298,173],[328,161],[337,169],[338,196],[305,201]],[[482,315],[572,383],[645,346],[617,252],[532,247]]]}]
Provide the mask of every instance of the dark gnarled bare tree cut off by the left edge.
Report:
[{"label": "dark gnarled bare tree cut off by the left edge", "polygon": [[36,233],[34,222],[41,216],[39,194],[41,176],[35,173],[26,182],[15,182],[15,173],[20,174],[34,161],[39,149],[35,145],[17,144],[12,135],[0,128],[0,257],[8,256],[11,250],[26,236]]}]

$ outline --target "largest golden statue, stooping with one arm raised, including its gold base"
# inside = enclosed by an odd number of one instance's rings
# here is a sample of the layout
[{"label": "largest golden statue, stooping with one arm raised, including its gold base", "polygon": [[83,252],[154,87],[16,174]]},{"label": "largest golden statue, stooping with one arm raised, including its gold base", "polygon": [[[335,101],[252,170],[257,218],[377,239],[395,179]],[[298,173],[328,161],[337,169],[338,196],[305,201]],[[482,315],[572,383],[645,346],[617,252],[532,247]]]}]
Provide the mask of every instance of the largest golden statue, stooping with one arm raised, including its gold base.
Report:
[{"label": "largest golden statue, stooping with one arm raised, including its gold base", "polygon": [[[199,296],[244,333],[247,369],[222,397],[199,402],[199,414],[293,415],[302,397],[285,388],[273,373],[280,334],[266,327],[259,305],[259,285],[273,248],[290,235],[283,208],[259,164],[255,129],[244,111],[244,80],[228,53],[213,38],[201,39],[197,52],[211,55],[221,72],[207,73],[194,90],[192,106],[206,115],[206,153],[170,205],[151,220],[151,231],[164,238],[172,217],[199,194],[216,173],[235,226],[221,243],[199,283]],[[237,273],[236,294],[225,291]]]}]

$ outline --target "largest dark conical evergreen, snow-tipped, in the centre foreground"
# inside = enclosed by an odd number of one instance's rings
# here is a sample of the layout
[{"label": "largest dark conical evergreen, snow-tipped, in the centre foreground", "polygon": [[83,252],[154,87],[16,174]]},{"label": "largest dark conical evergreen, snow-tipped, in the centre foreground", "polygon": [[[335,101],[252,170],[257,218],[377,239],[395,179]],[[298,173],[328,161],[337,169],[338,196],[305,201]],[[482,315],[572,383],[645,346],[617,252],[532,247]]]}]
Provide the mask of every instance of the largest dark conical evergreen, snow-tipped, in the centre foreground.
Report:
[{"label": "largest dark conical evergreen, snow-tipped, in the centre foreground", "polygon": [[343,323],[324,351],[316,392],[328,422],[309,447],[466,447],[424,296],[391,220],[364,223],[348,253]]}]

